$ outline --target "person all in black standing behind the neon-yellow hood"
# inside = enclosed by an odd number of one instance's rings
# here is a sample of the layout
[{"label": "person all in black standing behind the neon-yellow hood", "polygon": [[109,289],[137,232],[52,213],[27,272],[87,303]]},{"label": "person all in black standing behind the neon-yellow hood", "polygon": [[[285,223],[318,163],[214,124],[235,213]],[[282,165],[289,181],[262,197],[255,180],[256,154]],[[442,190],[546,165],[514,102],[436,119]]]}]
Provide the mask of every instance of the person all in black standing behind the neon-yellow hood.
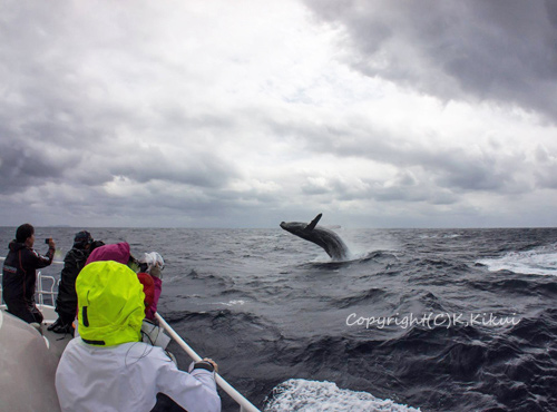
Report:
[{"label": "person all in black standing behind the neon-yellow hood", "polygon": [[58,297],[56,298],[56,312],[58,320],[48,326],[55,333],[71,333],[71,323],[76,318],[77,294],[76,278],[85,266],[87,257],[95,247],[104,245],[100,241],[94,241],[91,234],[81,230],[74,237],[74,246],[63,258],[63,268],[60,273],[60,284],[58,285]]}]

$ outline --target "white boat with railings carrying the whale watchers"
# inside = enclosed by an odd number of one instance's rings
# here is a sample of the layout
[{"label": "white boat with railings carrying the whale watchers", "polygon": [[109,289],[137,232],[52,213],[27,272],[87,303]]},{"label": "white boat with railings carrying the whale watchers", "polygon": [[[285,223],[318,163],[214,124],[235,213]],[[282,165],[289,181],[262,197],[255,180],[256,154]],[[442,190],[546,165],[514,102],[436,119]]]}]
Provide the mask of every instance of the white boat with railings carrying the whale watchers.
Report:
[{"label": "white boat with railings carrying the whale watchers", "polygon": [[[3,261],[3,258],[0,258]],[[45,282],[45,281],[49,282]],[[45,287],[50,284],[50,287]],[[37,274],[37,307],[45,320],[41,331],[7,312],[1,300],[0,286],[0,410],[1,411],[60,411],[55,388],[55,376],[60,356],[72,339],[70,334],[61,335],[48,331],[58,314],[45,297],[53,303],[56,300],[56,279],[52,276]],[[56,287],[56,290],[58,290]],[[164,317],[156,313],[158,325],[193,360],[202,357],[179,336]],[[245,396],[236,391],[218,373],[216,384],[238,405],[240,412],[261,412]],[[32,390],[30,390],[30,388]]]}]

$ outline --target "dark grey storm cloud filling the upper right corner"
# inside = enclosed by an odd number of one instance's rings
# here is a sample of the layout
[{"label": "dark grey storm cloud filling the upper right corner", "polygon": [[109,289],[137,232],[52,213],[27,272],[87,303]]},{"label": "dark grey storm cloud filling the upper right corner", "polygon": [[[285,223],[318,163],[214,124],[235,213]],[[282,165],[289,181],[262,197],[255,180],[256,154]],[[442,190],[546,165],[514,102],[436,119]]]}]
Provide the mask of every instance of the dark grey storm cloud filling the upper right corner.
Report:
[{"label": "dark grey storm cloud filling the upper right corner", "polygon": [[349,65],[450,99],[491,100],[557,121],[557,2],[554,0],[317,1],[340,24]]}]

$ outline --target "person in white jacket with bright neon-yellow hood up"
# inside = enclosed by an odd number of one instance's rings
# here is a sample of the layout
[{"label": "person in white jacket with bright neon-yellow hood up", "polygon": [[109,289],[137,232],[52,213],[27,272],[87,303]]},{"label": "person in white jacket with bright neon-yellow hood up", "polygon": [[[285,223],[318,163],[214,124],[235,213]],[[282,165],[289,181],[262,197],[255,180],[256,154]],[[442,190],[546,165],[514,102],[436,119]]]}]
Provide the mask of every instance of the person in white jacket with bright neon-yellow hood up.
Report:
[{"label": "person in white jacket with bright neon-yellow hood up", "polygon": [[189,412],[221,411],[213,361],[184,372],[163,349],[140,342],[145,294],[134,271],[114,261],[88,264],[76,291],[80,336],[56,372],[62,411],[150,411],[157,393]]}]

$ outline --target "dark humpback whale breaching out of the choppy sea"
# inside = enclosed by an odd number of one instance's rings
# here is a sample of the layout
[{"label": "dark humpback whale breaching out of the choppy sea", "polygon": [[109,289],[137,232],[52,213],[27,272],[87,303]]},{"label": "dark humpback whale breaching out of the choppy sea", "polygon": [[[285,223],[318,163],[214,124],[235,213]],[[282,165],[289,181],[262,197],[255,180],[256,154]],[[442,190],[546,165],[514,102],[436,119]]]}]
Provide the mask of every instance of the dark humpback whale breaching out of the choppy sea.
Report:
[{"label": "dark humpback whale breaching out of the choppy sea", "polygon": [[345,261],[349,257],[349,248],[333,230],[317,226],[321,216],[323,214],[320,213],[310,224],[283,222],[281,223],[281,227],[295,236],[323,247],[334,261]]}]

